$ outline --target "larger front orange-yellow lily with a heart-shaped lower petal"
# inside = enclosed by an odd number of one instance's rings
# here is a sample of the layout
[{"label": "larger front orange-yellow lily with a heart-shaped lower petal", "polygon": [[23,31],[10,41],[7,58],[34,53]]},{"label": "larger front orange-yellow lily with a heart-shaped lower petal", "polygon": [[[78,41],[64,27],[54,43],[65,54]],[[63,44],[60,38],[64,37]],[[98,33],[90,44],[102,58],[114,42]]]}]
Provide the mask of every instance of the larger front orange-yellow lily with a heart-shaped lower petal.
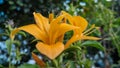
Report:
[{"label": "larger front orange-yellow lily with a heart-shaped lower petal", "polygon": [[20,30],[28,32],[36,39],[42,41],[36,44],[36,48],[40,53],[46,55],[50,59],[56,58],[64,50],[64,44],[62,41],[65,32],[78,27],[72,26],[63,21],[66,14],[59,15],[57,18],[54,18],[53,14],[50,14],[49,18],[35,12],[33,15],[36,24],[19,27],[12,31],[10,37],[13,39],[15,34]]}]

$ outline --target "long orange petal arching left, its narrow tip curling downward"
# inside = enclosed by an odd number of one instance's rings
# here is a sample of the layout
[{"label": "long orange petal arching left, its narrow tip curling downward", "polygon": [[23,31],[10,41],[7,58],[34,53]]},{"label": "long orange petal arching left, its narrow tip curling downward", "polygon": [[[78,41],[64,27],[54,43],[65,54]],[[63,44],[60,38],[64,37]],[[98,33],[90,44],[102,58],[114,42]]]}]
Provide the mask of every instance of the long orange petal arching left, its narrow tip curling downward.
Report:
[{"label": "long orange petal arching left, its narrow tip curling downward", "polygon": [[11,32],[10,37],[14,39],[15,34],[20,30],[28,32],[29,34],[33,35],[36,39],[42,40],[45,43],[48,41],[44,32],[42,32],[36,24],[19,27]]}]

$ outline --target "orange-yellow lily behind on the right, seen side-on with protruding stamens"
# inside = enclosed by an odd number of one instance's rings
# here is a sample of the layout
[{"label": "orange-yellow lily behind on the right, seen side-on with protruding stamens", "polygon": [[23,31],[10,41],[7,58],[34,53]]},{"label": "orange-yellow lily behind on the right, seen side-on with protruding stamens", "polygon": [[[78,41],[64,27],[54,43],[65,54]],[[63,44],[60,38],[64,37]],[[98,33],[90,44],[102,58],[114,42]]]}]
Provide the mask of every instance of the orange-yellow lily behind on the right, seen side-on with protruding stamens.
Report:
[{"label": "orange-yellow lily behind on the right, seen side-on with protruding stamens", "polygon": [[66,14],[66,19],[70,22],[70,24],[80,27],[79,29],[74,30],[73,36],[65,44],[65,49],[68,48],[70,46],[70,44],[72,44],[73,42],[78,41],[78,40],[85,40],[85,39],[99,40],[100,39],[97,37],[87,36],[88,34],[92,33],[91,30],[93,30],[94,28],[97,28],[97,27],[95,27],[95,25],[93,25],[90,29],[85,31],[85,29],[87,28],[87,25],[88,25],[88,22],[86,21],[86,19],[84,19],[81,16],[71,16],[68,13],[66,13],[65,11],[62,11],[61,13]]}]

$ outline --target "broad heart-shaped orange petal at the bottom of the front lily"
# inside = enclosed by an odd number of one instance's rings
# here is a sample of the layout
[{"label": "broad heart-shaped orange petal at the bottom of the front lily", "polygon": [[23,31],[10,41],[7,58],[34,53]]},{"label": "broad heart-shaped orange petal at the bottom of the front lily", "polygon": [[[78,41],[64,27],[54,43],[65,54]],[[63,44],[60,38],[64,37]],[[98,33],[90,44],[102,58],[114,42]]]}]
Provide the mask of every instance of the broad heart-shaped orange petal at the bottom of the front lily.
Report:
[{"label": "broad heart-shaped orange petal at the bottom of the front lily", "polygon": [[42,42],[38,42],[36,48],[48,58],[55,59],[64,50],[64,44],[57,42],[56,44],[48,45]]}]

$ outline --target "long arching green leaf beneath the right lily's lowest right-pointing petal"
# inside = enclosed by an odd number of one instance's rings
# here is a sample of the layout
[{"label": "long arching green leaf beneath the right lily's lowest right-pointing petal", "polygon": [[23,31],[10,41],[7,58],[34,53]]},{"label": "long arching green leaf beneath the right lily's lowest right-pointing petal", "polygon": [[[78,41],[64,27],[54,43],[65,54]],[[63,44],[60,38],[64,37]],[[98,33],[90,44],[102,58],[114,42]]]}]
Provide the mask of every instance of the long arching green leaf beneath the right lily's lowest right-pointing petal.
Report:
[{"label": "long arching green leaf beneath the right lily's lowest right-pointing petal", "polygon": [[100,49],[102,51],[105,50],[104,47],[97,41],[86,41],[82,43],[81,46],[90,46],[90,47],[95,47],[97,49]]}]

